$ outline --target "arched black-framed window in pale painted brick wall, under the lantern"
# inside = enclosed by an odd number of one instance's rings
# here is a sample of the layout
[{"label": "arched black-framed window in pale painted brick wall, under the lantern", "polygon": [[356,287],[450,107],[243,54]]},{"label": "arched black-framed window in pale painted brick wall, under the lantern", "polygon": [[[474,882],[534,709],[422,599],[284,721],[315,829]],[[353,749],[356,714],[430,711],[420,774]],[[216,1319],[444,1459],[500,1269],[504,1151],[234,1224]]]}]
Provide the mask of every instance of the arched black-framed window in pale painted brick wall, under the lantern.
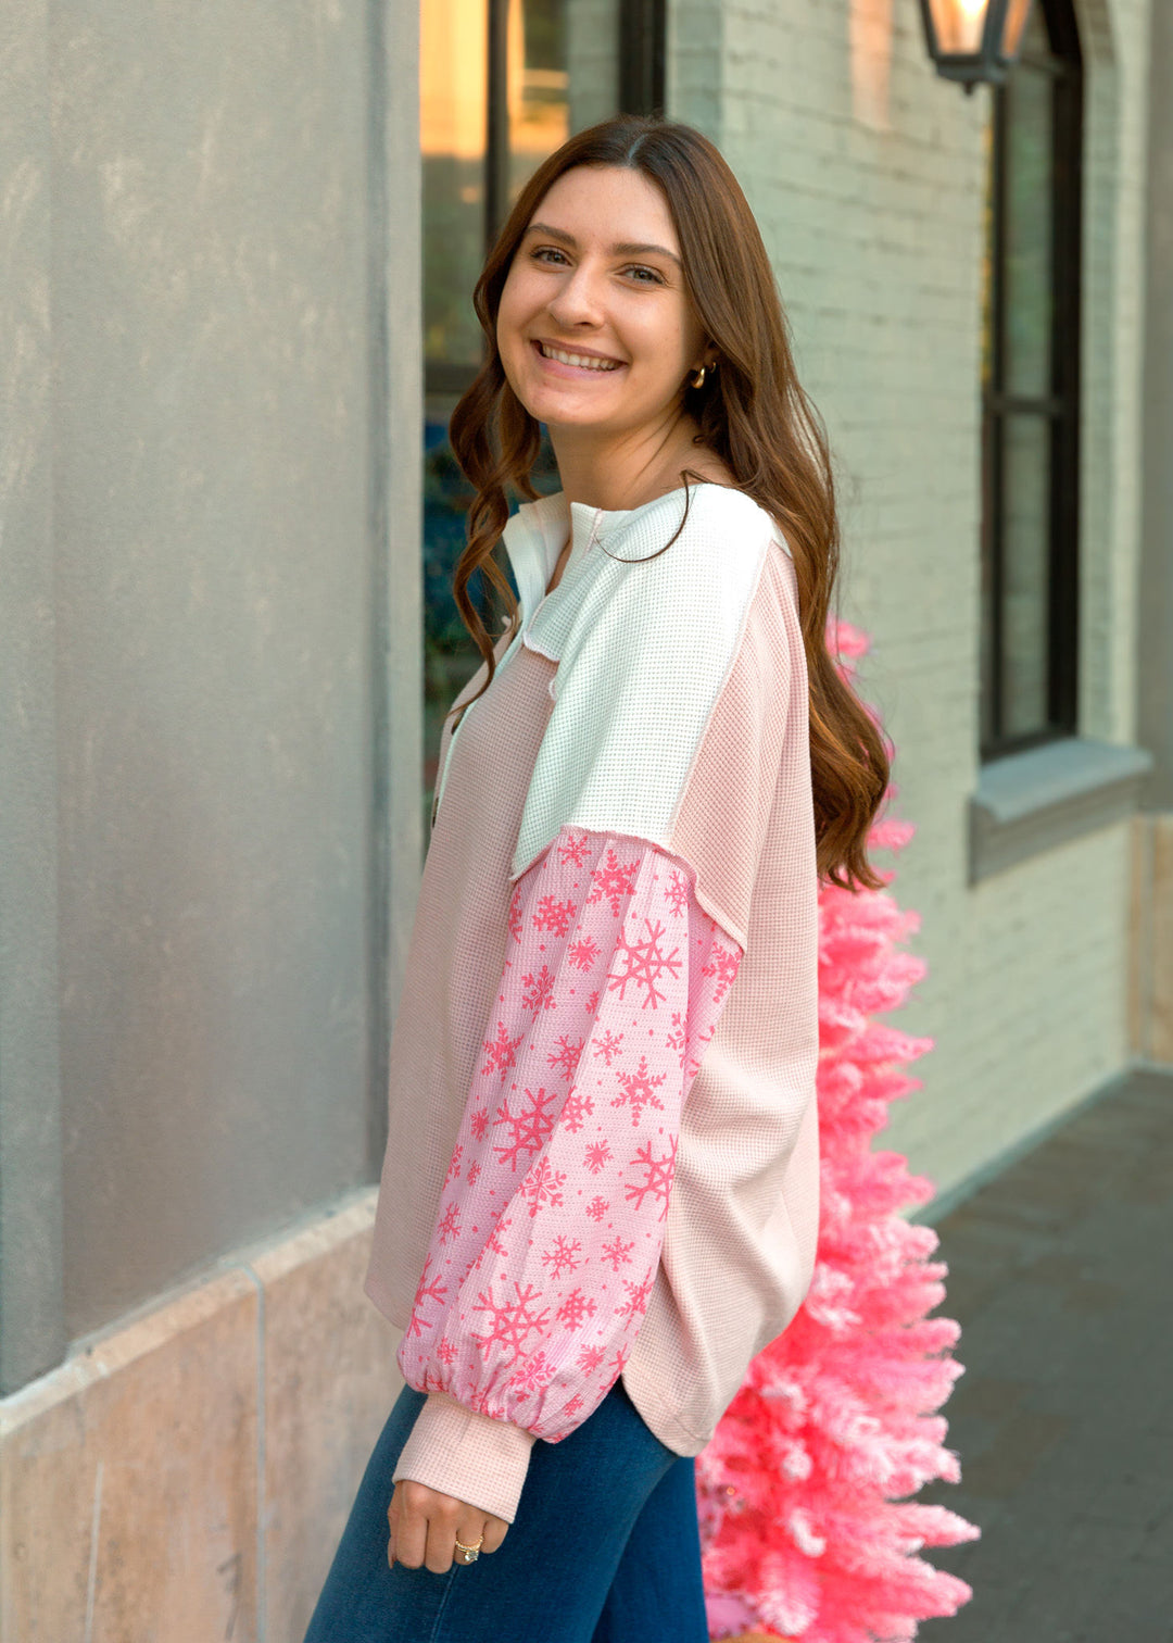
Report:
[{"label": "arched black-framed window in pale painted brick wall, under the lantern", "polygon": [[1081,143],[1073,5],[1035,0],[989,128],[984,759],[1078,728]]}]

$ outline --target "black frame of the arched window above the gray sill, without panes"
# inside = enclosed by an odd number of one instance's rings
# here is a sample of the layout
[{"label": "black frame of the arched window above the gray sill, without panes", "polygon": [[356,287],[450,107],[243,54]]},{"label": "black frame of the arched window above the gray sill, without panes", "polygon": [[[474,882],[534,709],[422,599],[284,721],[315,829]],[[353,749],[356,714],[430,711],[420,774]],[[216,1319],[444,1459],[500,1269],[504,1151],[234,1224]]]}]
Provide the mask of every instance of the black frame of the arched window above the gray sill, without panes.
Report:
[{"label": "black frame of the arched window above the gray sill, without panes", "polygon": [[[1079,718],[1079,327],[1083,271],[1083,54],[1071,0],[1035,0],[1051,44],[1028,58],[1053,79],[1051,122],[1051,391],[1009,393],[1005,383],[1005,87],[992,89],[991,373],[982,394],[982,585],[992,621],[981,680],[981,757],[992,761],[1078,734]],[[1010,76],[1015,69],[1010,69]],[[1042,416],[1050,424],[1046,725],[1005,729],[1005,419]],[[984,613],[982,613],[984,619]]]}]

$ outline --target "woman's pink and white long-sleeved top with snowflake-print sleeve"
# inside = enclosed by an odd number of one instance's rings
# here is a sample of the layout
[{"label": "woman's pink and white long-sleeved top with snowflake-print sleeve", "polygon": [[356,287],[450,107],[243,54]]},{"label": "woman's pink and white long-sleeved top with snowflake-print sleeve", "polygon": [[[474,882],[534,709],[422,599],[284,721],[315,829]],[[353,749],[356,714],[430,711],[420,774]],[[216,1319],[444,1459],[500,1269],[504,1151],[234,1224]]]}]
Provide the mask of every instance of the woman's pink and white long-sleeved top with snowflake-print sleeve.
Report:
[{"label": "woman's pink and white long-sleeved top with snowflake-print sleeve", "polygon": [[440,738],[363,1288],[427,1393],[402,1474],[511,1518],[616,1374],[698,1454],[795,1316],[820,953],[777,522],[702,483],[501,541],[521,624]]}]

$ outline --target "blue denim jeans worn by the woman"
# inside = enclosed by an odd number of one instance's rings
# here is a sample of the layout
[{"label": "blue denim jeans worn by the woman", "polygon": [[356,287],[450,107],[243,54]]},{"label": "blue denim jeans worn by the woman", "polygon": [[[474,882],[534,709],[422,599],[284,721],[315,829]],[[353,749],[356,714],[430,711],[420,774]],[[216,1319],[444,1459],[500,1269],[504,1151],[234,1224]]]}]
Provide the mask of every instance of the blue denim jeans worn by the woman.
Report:
[{"label": "blue denim jeans worn by the woman", "polygon": [[494,1553],[388,1567],[404,1387],[375,1444],[304,1643],[708,1643],[692,1456],[649,1429],[623,1377],[562,1443],[534,1443]]}]

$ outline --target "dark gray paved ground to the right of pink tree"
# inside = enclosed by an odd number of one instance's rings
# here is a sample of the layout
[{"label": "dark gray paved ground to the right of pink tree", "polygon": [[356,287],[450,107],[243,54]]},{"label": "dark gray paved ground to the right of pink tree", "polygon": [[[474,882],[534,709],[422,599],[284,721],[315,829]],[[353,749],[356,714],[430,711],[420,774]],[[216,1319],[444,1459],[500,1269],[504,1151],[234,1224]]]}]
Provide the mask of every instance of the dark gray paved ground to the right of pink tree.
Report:
[{"label": "dark gray paved ground to the right of pink tree", "polygon": [[[932,1213],[928,1216],[932,1219]],[[925,1643],[1173,1643],[1173,1076],[1135,1073],[943,1221],[945,1405],[982,1538]]]}]

